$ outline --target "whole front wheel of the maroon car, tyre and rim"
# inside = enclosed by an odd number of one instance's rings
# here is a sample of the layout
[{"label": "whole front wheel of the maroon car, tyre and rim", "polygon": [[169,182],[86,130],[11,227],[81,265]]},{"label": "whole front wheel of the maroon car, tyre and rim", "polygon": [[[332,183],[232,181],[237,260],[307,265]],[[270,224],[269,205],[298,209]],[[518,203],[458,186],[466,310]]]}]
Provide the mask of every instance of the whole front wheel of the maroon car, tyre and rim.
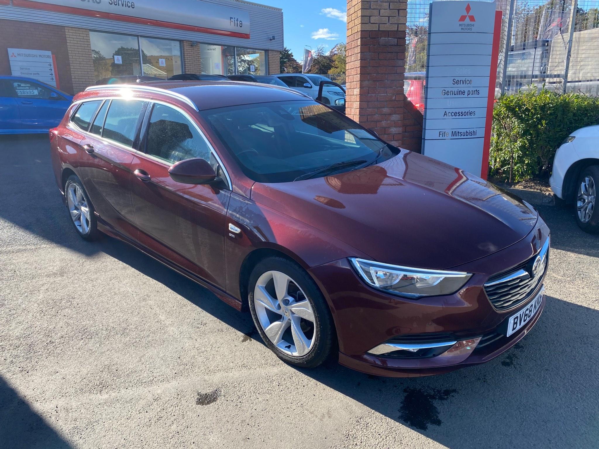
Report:
[{"label": "whole front wheel of the maroon car, tyre and rim", "polygon": [[336,342],[331,312],[304,269],[268,257],[253,269],[248,292],[256,329],[280,359],[313,368],[331,356]]}]

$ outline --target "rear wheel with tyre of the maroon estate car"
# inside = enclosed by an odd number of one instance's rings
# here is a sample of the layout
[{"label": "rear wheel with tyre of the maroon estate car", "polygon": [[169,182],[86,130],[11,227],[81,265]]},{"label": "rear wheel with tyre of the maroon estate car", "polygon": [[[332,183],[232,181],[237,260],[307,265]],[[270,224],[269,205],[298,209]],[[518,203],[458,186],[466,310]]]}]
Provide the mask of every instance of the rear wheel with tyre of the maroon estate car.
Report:
[{"label": "rear wheel with tyre of the maroon estate car", "polygon": [[92,202],[76,175],[71,175],[66,180],[65,199],[71,222],[79,236],[84,240],[97,239],[101,234],[93,214]]}]

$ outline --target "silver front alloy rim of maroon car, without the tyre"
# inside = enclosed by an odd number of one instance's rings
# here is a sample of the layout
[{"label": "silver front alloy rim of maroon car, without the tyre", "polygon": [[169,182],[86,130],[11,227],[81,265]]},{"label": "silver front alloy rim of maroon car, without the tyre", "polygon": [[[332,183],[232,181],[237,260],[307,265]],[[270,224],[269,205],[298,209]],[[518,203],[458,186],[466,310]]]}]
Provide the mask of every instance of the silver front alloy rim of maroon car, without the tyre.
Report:
[{"label": "silver front alloy rim of maroon car, without the tyre", "polygon": [[316,341],[312,305],[298,284],[280,271],[267,271],[254,288],[258,321],[268,339],[283,353],[302,357]]}]

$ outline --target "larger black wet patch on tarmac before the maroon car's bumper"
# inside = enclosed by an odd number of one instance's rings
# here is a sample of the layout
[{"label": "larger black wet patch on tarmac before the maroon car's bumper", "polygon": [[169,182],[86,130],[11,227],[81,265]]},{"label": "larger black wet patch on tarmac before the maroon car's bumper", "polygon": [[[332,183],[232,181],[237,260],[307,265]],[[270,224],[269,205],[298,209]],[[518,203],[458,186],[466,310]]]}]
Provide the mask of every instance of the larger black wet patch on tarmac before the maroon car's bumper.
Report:
[{"label": "larger black wet patch on tarmac before the maroon car's bumper", "polygon": [[404,389],[404,399],[401,403],[400,420],[419,430],[426,430],[430,424],[440,426],[439,410],[433,401],[446,401],[457,390],[432,390],[429,393],[416,388]]}]

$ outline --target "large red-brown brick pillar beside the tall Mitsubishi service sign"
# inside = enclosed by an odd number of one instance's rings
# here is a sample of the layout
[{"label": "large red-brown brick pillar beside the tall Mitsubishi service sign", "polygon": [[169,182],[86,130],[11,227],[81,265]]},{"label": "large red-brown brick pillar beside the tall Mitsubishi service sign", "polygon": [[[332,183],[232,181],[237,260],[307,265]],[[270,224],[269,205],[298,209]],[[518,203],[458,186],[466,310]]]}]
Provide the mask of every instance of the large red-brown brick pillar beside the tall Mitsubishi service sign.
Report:
[{"label": "large red-brown brick pillar beside the tall Mitsubishi service sign", "polygon": [[406,19],[407,0],[347,0],[346,114],[386,141],[419,151],[422,124],[416,129],[404,95]]}]

